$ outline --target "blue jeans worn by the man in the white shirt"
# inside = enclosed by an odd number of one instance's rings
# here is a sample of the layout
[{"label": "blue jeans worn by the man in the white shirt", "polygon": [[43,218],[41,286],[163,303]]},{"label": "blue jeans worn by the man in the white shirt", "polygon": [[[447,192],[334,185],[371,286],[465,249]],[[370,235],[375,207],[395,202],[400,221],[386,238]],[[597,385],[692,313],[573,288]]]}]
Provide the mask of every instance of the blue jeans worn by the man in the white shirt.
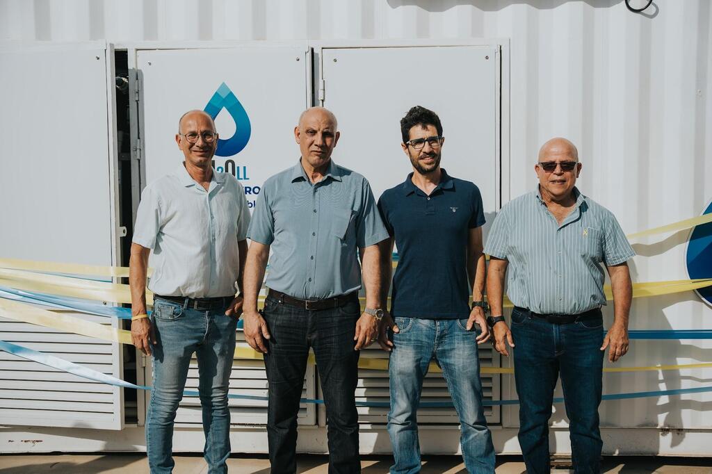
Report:
[{"label": "blue jeans worn by the man in the white shirt", "polygon": [[[226,299],[226,307],[229,299]],[[173,470],[173,422],[183,397],[193,353],[198,359],[200,404],[205,433],[204,457],[211,474],[226,473],[230,455],[230,410],[227,404],[235,354],[237,319],[226,307],[210,311],[186,309],[157,298],[152,322],[153,389],[146,416],[146,449],[152,474]]]}]

